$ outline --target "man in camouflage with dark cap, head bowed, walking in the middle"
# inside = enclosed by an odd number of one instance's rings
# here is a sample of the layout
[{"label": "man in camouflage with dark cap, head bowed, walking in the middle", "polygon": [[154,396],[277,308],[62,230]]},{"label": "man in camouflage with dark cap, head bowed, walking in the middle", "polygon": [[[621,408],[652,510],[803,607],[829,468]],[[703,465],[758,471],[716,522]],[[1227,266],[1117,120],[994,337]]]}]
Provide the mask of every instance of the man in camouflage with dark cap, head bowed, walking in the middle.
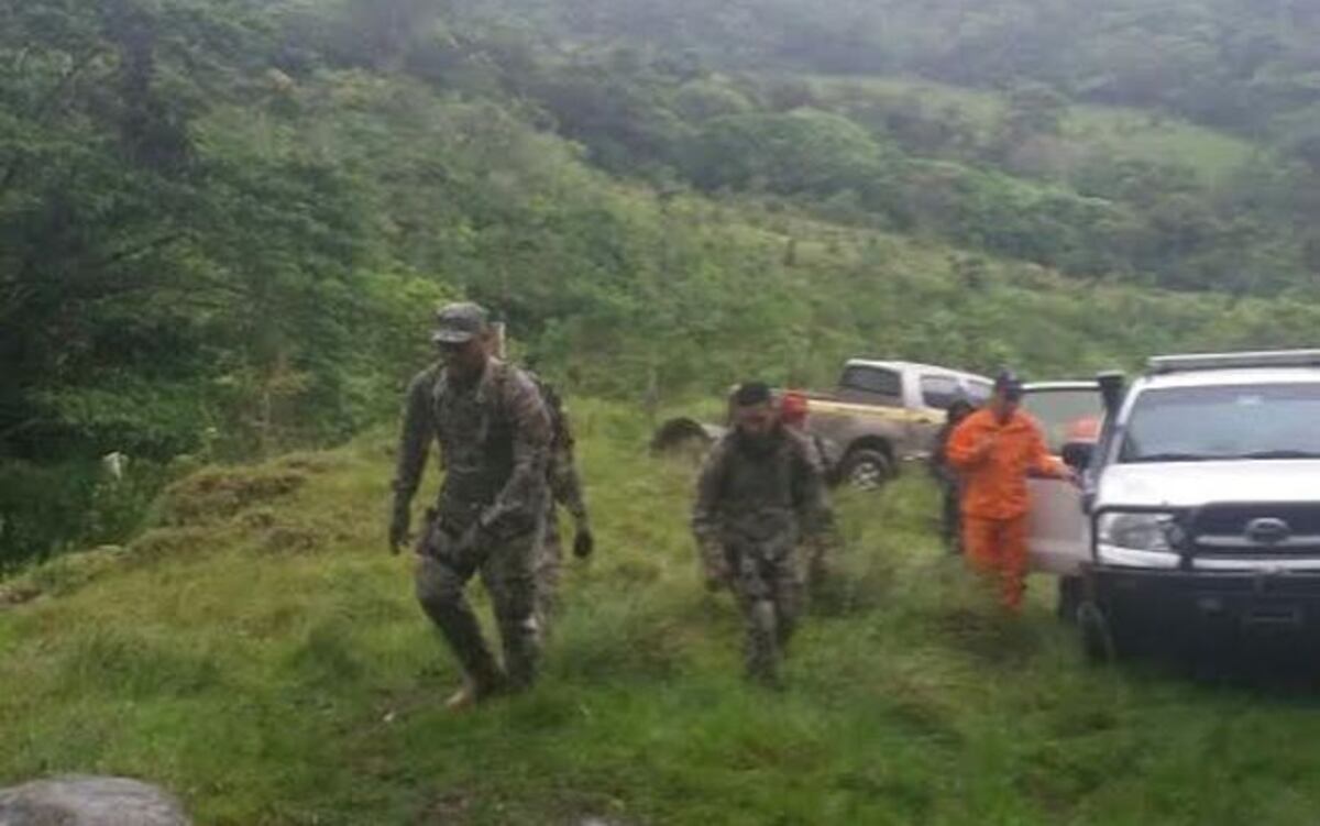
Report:
[{"label": "man in camouflage with dark cap, head bowed, walking in the middle", "polygon": [[739,387],[733,420],[701,468],[692,529],[708,587],[729,585],[738,596],[748,676],[779,685],[801,610],[797,548],[822,528],[825,483],[807,441],[780,424],[768,387]]}]

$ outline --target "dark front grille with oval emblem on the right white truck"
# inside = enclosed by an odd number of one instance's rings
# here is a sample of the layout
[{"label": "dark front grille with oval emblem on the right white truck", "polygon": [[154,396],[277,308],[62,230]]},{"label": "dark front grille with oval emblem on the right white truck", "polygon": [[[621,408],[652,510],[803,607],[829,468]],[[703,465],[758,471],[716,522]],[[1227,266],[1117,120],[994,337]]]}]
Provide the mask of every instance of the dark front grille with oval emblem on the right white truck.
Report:
[{"label": "dark front grille with oval emblem on the right white truck", "polygon": [[1200,557],[1320,557],[1320,504],[1208,505],[1189,528]]}]

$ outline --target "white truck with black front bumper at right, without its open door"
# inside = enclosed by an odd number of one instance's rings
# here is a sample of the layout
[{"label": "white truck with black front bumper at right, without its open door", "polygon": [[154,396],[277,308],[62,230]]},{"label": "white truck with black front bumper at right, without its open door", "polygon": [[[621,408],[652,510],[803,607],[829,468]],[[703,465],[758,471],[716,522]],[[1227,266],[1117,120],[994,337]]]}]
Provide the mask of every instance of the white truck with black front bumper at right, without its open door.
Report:
[{"label": "white truck with black front bumper at right, without its open door", "polygon": [[[1109,404],[1084,468],[1088,653],[1320,640],[1320,350],[1163,356]],[[1047,507],[1041,503],[1041,507]]]}]

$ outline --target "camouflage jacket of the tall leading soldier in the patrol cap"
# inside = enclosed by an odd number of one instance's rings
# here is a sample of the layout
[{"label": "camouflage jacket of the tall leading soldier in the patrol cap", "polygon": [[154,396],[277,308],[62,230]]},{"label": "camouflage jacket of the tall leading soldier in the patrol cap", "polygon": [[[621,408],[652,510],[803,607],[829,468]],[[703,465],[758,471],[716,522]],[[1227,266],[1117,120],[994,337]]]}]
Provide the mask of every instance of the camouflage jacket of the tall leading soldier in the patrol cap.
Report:
[{"label": "camouflage jacket of the tall leading soldier in the patrol cap", "polygon": [[395,496],[409,501],[430,442],[440,445],[437,515],[453,532],[474,521],[496,536],[535,529],[546,503],[550,420],[523,371],[492,359],[480,380],[458,387],[434,364],[408,387]]}]

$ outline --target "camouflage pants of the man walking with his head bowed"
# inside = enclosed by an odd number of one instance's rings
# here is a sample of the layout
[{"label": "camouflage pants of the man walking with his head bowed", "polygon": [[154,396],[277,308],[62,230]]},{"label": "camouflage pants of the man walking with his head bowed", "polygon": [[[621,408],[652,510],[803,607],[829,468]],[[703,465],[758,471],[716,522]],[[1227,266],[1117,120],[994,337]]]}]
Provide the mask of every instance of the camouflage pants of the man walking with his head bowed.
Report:
[{"label": "camouflage pants of the man walking with his head bowed", "polygon": [[789,637],[803,607],[803,577],[795,540],[726,545],[733,587],[747,623],[747,676],[777,685]]}]

